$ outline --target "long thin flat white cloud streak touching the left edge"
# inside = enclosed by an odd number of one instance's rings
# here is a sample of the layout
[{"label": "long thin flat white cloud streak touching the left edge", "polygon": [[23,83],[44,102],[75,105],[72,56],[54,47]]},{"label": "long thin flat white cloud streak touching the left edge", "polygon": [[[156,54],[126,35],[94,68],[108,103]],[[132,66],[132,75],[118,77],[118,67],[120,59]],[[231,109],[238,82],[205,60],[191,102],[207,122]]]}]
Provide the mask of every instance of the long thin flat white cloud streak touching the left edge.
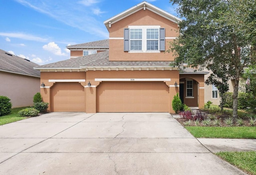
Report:
[{"label": "long thin flat white cloud streak touching the left edge", "polygon": [[7,36],[10,38],[20,38],[23,40],[31,40],[31,41],[39,41],[39,42],[46,42],[47,39],[41,38],[38,36],[34,36],[31,34],[23,34],[23,33],[5,33],[5,32],[0,32],[0,36]]}]

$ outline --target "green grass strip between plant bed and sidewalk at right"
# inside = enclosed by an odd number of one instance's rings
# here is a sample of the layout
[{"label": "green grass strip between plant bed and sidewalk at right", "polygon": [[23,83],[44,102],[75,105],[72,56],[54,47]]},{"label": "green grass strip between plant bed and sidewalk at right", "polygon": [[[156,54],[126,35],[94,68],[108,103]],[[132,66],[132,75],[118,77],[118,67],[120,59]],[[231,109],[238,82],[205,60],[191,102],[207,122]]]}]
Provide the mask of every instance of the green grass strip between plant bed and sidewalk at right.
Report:
[{"label": "green grass strip between plant bed and sidewalk at right", "polygon": [[256,127],[185,127],[196,138],[256,139]]}]

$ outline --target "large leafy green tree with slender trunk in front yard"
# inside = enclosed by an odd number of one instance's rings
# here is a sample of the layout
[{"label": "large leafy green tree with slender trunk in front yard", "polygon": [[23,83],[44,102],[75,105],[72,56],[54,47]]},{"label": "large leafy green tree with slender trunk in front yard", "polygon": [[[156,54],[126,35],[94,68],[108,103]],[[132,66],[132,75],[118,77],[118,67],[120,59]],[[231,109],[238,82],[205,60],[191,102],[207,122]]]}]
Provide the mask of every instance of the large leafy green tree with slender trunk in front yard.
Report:
[{"label": "large leafy green tree with slender trunk in front yard", "polygon": [[233,118],[238,117],[238,85],[243,70],[255,64],[255,0],[170,0],[177,4],[179,37],[170,43],[176,58],[172,66],[203,69],[226,65],[234,79]]}]

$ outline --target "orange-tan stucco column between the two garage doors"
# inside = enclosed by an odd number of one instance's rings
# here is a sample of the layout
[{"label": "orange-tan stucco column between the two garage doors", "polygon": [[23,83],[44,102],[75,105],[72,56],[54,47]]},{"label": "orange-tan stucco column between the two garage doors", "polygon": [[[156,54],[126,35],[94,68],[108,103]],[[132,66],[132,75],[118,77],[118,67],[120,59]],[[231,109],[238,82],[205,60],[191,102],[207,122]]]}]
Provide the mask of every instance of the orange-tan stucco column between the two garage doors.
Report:
[{"label": "orange-tan stucco column between the two garage doors", "polygon": [[86,113],[96,113],[96,87],[86,87]]}]

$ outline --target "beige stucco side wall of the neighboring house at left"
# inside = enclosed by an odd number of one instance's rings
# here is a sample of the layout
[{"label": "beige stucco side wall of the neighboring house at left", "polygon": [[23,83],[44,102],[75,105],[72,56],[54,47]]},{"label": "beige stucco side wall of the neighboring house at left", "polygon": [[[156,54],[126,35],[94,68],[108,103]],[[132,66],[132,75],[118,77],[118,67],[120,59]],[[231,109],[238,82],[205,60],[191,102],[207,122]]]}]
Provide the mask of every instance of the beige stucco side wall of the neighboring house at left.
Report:
[{"label": "beige stucco side wall of the neighboring house at left", "polygon": [[33,97],[40,92],[40,78],[0,72],[0,95],[11,99],[12,107],[33,105]]}]

